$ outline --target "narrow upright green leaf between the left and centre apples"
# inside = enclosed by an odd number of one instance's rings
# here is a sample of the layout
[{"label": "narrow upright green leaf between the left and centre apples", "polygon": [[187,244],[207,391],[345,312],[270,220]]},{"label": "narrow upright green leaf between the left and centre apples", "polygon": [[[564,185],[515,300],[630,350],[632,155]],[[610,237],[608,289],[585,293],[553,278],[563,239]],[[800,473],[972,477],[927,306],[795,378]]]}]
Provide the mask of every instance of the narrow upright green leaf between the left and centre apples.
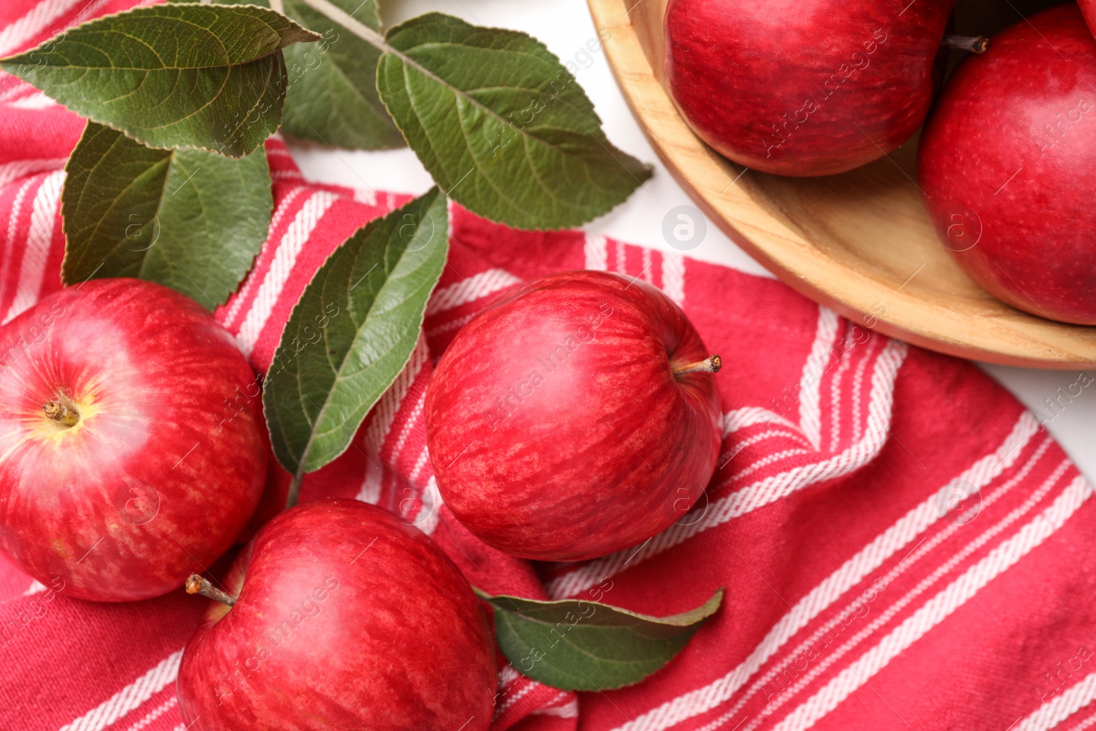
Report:
[{"label": "narrow upright green leaf between the left and centre apples", "polygon": [[298,484],[350,446],[411,357],[448,247],[435,187],[355,231],[308,283],[263,387],[274,454]]}]

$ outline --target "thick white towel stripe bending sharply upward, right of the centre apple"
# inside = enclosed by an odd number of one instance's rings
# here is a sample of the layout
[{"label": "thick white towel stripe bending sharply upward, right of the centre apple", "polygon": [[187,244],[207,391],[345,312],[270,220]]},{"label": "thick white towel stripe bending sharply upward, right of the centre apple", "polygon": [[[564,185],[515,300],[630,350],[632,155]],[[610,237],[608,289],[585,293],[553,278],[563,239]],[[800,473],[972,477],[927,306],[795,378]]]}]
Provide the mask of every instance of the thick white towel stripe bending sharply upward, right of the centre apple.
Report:
[{"label": "thick white towel stripe bending sharply upward, right of the centre apple", "polygon": [[726,498],[711,503],[703,518],[689,525],[674,524],[654,538],[643,544],[637,551],[626,549],[605,558],[591,561],[569,573],[557,576],[548,583],[546,591],[551,598],[574,596],[606,576],[685,542],[698,533],[720,526],[728,521],[745,515],[772,502],[785,498],[817,482],[830,480],[855,471],[882,449],[887,441],[890,411],[893,404],[894,381],[899,368],[905,359],[909,347],[891,340],[876,361],[871,375],[871,396],[868,413],[871,416],[867,433],[860,442],[850,445],[830,459],[801,465],[750,484]]}]

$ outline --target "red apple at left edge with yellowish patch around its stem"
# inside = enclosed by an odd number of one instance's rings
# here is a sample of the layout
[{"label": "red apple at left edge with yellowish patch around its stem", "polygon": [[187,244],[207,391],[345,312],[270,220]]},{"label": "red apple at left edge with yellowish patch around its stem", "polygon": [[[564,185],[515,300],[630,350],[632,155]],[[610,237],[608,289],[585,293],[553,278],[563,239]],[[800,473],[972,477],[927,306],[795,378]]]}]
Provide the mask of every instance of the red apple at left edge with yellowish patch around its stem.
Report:
[{"label": "red apple at left edge with yellowish patch around its stem", "polygon": [[[254,380],[194,300],[140,279],[54,293],[0,330],[0,547],[71,596],[158,596],[209,566],[263,487]],[[239,411],[237,411],[239,409]]]}]

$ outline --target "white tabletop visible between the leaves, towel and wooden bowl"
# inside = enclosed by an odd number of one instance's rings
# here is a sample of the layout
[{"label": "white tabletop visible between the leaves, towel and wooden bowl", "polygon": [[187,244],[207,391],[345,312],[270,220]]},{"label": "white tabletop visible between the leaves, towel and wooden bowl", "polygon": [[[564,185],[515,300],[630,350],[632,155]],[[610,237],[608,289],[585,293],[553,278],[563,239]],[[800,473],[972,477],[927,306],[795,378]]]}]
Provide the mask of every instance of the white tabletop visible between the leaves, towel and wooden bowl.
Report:
[{"label": "white tabletop visible between the leaves, towel and wooden bowl", "polygon": [[[573,60],[579,67],[579,82],[590,95],[613,142],[654,164],[654,175],[621,206],[607,216],[587,224],[585,230],[642,245],[673,251],[662,235],[663,218],[671,208],[689,205],[685,191],[673,180],[639,125],[631,116],[604,50],[590,54],[586,42],[596,38],[585,0],[380,0],[386,25],[408,18],[438,11],[463,18],[478,25],[525,31],[548,46],[563,62]],[[612,42],[610,42],[612,43]],[[425,193],[433,184],[414,155],[407,149],[385,152],[347,152],[294,148],[294,158],[309,180],[373,187],[402,193]],[[703,242],[688,255],[735,269],[768,276],[749,254],[709,222]],[[1094,293],[1096,294],[1096,293]],[[1004,384],[1025,404],[1043,408],[1043,401],[1054,397],[1057,389],[1074,384],[1078,373],[1034,370],[997,365],[982,366]],[[1096,377],[1096,372],[1093,373]],[[972,415],[977,418],[977,415]],[[1065,450],[1077,462],[1089,481],[1096,482],[1096,384],[1069,403],[1048,422]]]}]

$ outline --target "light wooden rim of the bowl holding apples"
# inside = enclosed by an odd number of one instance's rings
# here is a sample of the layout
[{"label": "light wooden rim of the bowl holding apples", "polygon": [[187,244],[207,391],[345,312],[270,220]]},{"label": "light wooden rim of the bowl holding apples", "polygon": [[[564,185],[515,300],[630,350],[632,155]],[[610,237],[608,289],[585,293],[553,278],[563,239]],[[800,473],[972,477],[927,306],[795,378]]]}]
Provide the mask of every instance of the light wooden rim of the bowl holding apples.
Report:
[{"label": "light wooden rim of the bowl holding apples", "polygon": [[[829,255],[743,184],[743,169],[705,145],[663,89],[629,15],[643,12],[642,4],[647,12],[659,5],[658,12],[665,0],[587,3],[598,33],[609,33],[606,55],[632,115],[666,168],[710,220],[794,289],[883,334],[949,355],[1036,368],[1096,365],[1096,328],[1044,320],[996,300],[1000,307],[990,309],[931,302],[879,273],[869,276],[867,263],[861,271]],[[887,311],[877,315],[881,297]]]}]

